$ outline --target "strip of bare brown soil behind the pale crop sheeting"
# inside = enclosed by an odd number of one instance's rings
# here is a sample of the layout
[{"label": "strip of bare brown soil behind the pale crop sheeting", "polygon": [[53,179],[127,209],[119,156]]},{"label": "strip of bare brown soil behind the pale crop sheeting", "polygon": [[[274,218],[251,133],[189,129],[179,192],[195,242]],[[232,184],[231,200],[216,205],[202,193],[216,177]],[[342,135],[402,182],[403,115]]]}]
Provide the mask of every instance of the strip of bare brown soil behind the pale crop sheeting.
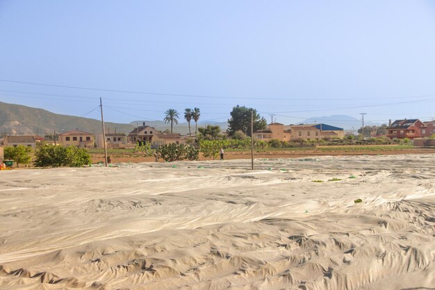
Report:
[{"label": "strip of bare brown soil behind the pale crop sheeting", "polygon": [[[375,146],[371,146],[376,148]],[[323,150],[328,148],[327,151]],[[254,158],[299,158],[306,156],[352,156],[352,155],[394,155],[394,154],[435,154],[435,148],[411,148],[411,149],[391,149],[386,150],[385,145],[379,146],[379,150],[358,150],[355,147],[349,147],[349,150],[334,150],[334,147],[318,147],[309,150],[286,150],[286,151],[270,151],[270,152],[254,152]],[[227,151],[225,152],[225,159],[250,159],[250,151]],[[112,163],[118,162],[150,162],[154,161],[154,157],[147,157],[143,154],[115,154],[110,156]],[[204,158],[202,154],[199,155],[199,160],[212,160],[211,158]],[[92,154],[92,163],[104,161],[104,154]],[[160,162],[163,162],[160,159]]]}]

